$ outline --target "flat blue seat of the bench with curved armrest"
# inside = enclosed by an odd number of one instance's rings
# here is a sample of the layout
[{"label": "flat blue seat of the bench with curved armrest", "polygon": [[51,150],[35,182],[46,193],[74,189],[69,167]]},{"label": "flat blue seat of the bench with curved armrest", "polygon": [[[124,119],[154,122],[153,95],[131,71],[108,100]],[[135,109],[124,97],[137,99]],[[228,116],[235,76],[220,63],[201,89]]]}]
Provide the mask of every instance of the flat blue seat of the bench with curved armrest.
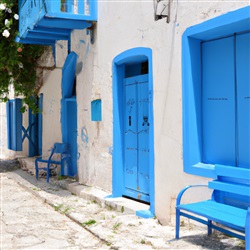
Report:
[{"label": "flat blue seat of the bench with curved armrest", "polygon": [[227,226],[241,228],[242,231],[245,228],[247,210],[224,205],[212,200],[181,204],[177,206],[177,209],[204,216]]}]

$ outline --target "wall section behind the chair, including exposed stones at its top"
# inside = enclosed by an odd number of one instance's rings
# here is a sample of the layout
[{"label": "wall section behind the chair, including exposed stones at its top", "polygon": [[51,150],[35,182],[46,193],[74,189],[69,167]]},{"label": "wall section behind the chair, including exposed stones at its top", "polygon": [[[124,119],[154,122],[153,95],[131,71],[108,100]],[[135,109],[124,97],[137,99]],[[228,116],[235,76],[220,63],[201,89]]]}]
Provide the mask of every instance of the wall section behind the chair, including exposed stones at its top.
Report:
[{"label": "wall section behind the chair, including exposed stones at its top", "polygon": [[43,83],[39,94],[43,94],[42,112],[42,154],[50,154],[55,142],[62,142],[61,131],[61,98],[62,67],[67,57],[68,43],[58,41],[55,46],[56,58],[51,49],[46,50],[40,58],[43,68]]}]

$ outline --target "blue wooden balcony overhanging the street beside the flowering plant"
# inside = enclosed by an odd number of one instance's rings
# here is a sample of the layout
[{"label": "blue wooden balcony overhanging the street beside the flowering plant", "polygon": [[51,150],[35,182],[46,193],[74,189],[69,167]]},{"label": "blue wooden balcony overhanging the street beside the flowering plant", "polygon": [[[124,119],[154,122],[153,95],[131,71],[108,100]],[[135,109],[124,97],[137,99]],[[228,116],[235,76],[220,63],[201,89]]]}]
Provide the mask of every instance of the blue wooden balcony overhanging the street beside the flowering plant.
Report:
[{"label": "blue wooden balcony overhanging the street beside the flowering plant", "polygon": [[97,21],[97,0],[19,0],[18,42],[52,45]]}]

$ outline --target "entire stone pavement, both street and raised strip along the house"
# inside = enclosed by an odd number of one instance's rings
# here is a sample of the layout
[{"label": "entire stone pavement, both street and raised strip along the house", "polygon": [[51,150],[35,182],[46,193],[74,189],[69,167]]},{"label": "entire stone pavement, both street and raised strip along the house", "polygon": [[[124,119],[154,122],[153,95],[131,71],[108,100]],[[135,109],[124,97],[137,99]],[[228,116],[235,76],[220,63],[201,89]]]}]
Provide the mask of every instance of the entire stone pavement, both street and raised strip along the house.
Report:
[{"label": "entire stone pavement, both street and raised strip along the house", "polygon": [[208,237],[204,227],[186,222],[176,241],[173,226],[138,218],[126,203],[101,198],[103,190],[65,184],[74,195],[51,182],[0,160],[1,250],[244,249],[244,241],[217,232]]}]

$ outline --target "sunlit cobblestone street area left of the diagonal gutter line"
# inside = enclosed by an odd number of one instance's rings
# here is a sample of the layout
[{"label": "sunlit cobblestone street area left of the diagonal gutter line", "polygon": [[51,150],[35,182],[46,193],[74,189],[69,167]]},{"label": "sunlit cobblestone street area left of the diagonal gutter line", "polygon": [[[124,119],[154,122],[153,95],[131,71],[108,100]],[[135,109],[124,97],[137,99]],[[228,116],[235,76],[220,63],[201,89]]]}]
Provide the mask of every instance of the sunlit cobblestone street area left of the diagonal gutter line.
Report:
[{"label": "sunlit cobblestone street area left of the diagonal gutter line", "polygon": [[[1,169],[7,172],[15,165]],[[1,250],[104,248],[103,242],[1,173]]]}]

